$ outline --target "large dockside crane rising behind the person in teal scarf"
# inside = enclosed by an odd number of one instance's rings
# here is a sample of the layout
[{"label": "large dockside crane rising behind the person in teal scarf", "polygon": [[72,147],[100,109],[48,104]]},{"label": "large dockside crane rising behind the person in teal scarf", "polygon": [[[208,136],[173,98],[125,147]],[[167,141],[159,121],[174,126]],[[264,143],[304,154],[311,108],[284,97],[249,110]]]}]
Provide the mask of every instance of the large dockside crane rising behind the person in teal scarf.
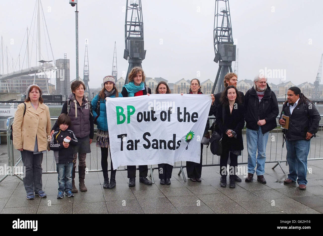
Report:
[{"label": "large dockside crane rising behind the person in teal scarf", "polygon": [[125,47],[126,48],[124,50],[123,58],[128,60],[129,63],[128,72],[125,79],[125,84],[127,84],[128,75],[131,69],[136,66],[141,67],[142,60],[145,59],[146,56],[146,50],[144,50],[143,41],[141,0],[130,0],[129,5],[127,0]]}]

